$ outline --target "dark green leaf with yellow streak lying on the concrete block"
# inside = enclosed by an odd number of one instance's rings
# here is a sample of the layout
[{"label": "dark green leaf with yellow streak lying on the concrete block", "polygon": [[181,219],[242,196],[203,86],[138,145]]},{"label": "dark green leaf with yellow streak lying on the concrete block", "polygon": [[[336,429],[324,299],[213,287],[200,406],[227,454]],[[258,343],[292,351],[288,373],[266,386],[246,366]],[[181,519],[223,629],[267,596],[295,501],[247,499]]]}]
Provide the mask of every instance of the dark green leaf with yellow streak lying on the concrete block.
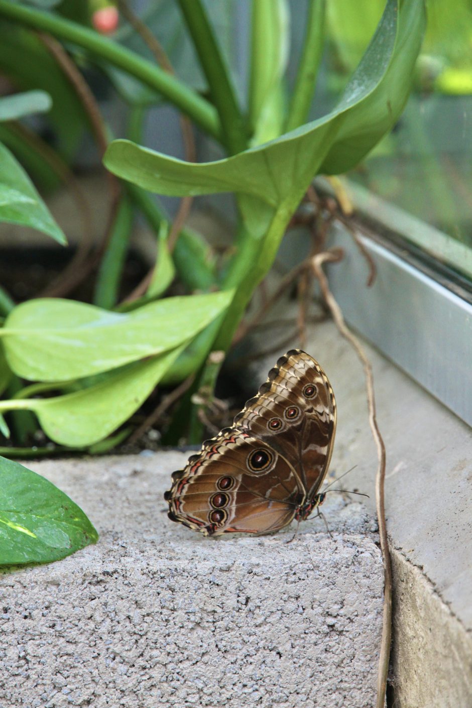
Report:
[{"label": "dark green leaf with yellow streak lying on the concrete block", "polygon": [[0,458],[0,564],[47,563],[96,543],[98,533],[64,492]]}]

